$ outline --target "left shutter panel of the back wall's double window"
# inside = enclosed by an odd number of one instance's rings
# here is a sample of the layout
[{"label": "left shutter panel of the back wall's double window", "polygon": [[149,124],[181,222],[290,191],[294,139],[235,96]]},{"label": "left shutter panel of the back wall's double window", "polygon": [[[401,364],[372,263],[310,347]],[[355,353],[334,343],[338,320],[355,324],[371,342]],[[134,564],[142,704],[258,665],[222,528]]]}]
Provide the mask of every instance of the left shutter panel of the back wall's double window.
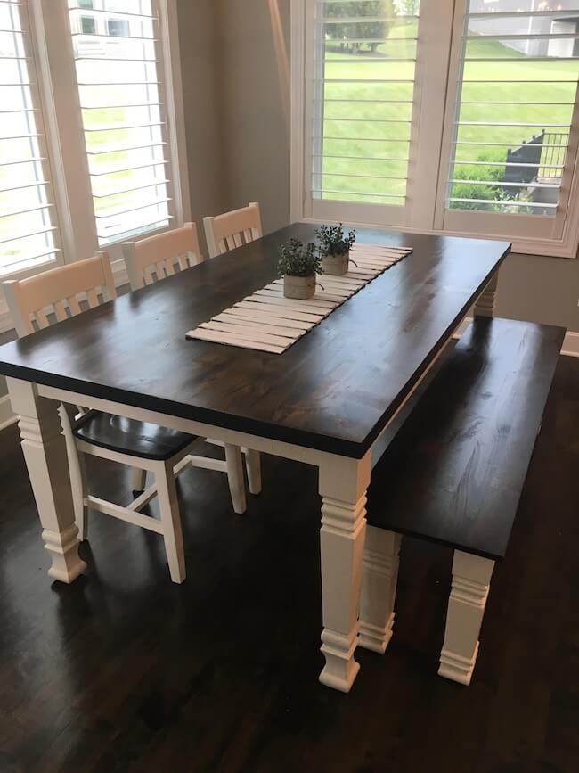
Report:
[{"label": "left shutter panel of the back wall's double window", "polygon": [[409,220],[419,0],[314,0],[306,63],[306,214]]}]

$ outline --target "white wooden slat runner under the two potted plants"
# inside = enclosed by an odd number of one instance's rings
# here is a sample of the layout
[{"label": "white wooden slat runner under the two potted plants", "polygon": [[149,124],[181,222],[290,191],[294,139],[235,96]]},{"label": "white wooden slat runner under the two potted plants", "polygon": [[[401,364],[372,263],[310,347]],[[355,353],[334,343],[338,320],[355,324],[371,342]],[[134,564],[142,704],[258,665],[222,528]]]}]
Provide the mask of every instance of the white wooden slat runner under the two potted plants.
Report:
[{"label": "white wooden slat runner under the two potted plants", "polygon": [[284,298],[283,279],[277,279],[190,330],[187,338],[283,354],[344,301],[411,252],[408,247],[356,244],[350,251],[351,270],[343,276],[318,277],[323,290],[318,286],[314,298]]}]

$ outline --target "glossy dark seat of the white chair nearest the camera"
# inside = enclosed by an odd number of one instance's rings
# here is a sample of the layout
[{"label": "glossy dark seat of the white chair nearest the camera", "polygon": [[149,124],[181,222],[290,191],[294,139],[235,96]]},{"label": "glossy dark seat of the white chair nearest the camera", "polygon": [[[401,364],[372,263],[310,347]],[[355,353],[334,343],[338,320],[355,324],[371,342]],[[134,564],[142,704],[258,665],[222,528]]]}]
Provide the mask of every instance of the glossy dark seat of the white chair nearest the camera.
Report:
[{"label": "glossy dark seat of the white chair nearest the camera", "polygon": [[155,461],[170,459],[196,440],[195,435],[186,432],[102,411],[88,411],[77,420],[72,432],[94,446]]}]

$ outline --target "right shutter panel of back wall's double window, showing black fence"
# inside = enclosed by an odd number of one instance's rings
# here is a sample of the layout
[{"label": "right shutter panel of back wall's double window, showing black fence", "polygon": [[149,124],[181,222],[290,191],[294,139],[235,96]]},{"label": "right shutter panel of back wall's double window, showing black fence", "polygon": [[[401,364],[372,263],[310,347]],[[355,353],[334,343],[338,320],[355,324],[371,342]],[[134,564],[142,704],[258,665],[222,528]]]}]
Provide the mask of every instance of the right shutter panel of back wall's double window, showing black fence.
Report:
[{"label": "right shutter panel of back wall's double window, showing black fence", "polygon": [[579,0],[458,4],[436,226],[564,242]]}]

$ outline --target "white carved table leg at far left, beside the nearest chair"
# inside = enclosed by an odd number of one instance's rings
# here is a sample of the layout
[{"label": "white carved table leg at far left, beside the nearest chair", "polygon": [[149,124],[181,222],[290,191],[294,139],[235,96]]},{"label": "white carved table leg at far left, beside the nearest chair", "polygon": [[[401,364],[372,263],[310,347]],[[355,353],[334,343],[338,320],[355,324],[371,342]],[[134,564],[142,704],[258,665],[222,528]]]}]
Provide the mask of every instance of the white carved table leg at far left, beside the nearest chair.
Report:
[{"label": "white carved table leg at far left, beside the nearest chair", "polygon": [[86,569],[78,555],[66,441],[59,402],[40,398],[29,382],[8,379],[12,410],[19,416],[22,449],[42,523],[42,539],[51,555],[50,577],[76,580]]}]

